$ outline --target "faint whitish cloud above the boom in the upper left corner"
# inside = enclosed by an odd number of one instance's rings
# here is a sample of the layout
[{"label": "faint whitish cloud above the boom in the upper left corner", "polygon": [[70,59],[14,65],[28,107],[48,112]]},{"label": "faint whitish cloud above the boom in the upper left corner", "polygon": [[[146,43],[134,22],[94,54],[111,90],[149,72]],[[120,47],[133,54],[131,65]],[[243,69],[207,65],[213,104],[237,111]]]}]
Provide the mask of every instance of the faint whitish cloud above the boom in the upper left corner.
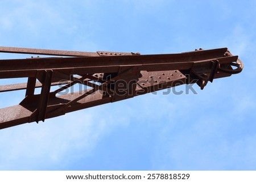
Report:
[{"label": "faint whitish cloud above the boom in the upper left corner", "polygon": [[[30,46],[34,46],[36,41],[53,41],[60,32],[70,34],[76,30],[75,22],[69,18],[72,14],[65,12],[69,11],[69,5],[62,2],[17,1],[0,9],[3,10],[0,15],[2,44],[7,42],[12,44],[10,46],[26,46],[24,44],[30,42]],[[9,33],[18,37],[6,40],[4,35]]]}]

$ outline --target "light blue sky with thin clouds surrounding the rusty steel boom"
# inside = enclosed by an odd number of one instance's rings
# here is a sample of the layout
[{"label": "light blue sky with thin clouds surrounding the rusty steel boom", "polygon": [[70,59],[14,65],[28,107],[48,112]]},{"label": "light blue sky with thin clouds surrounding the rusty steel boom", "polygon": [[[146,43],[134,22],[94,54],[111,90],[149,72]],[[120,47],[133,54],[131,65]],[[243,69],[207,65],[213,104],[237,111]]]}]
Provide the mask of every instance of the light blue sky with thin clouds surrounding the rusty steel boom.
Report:
[{"label": "light blue sky with thin clouds surrounding the rusty steel boom", "polygon": [[[141,54],[228,47],[245,64],[203,91],[193,86],[197,94],[159,91],[0,130],[0,170],[256,170],[255,1],[3,0],[0,12],[1,46]],[[1,93],[0,107],[23,95]]]}]

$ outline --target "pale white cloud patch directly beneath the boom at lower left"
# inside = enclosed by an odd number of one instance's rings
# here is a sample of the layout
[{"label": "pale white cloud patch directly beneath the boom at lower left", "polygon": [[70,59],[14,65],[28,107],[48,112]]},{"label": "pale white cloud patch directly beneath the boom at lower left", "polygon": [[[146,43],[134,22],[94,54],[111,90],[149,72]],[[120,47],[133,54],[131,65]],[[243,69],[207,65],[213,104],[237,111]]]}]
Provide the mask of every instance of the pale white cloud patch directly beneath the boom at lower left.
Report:
[{"label": "pale white cloud patch directly beneath the boom at lower left", "polygon": [[0,168],[49,170],[60,164],[57,168],[65,168],[73,159],[92,155],[97,142],[113,128],[128,124],[108,117],[98,108],[1,130]]}]

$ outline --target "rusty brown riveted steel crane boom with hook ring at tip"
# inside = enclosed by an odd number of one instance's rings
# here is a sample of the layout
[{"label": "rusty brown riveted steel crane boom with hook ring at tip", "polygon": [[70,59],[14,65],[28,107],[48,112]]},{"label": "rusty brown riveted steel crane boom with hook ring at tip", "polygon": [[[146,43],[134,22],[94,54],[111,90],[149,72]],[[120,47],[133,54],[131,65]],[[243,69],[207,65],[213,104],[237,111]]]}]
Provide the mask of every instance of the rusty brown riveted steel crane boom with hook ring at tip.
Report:
[{"label": "rusty brown riveted steel crane boom with hook ring at tip", "polygon": [[[243,68],[227,48],[141,55],[0,46],[0,52],[54,56],[0,60],[0,79],[27,78],[27,83],[0,86],[0,92],[25,90],[18,105],[0,109],[0,129],[180,84],[197,83],[203,89],[208,81],[240,73]],[[75,84],[82,89],[70,92]]]}]

